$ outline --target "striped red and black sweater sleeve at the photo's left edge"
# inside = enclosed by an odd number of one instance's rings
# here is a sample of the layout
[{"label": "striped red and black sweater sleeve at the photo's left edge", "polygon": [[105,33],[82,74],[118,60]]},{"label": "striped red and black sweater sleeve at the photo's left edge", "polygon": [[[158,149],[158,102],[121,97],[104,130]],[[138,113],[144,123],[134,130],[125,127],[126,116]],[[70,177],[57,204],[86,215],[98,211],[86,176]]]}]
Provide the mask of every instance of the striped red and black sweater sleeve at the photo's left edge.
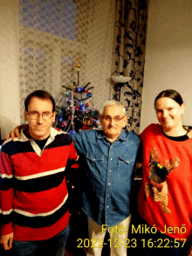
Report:
[{"label": "striped red and black sweater sleeve at the photo's left edge", "polygon": [[6,147],[0,151],[0,224],[1,235],[10,234],[12,228],[13,214],[13,170],[10,156],[7,154]]}]

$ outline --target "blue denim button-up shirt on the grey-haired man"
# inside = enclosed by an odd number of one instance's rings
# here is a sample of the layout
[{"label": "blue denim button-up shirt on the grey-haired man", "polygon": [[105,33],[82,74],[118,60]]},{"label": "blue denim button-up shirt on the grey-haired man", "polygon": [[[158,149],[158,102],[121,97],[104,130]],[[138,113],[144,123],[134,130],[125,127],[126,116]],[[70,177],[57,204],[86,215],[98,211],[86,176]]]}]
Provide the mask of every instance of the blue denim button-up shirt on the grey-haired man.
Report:
[{"label": "blue denim button-up shirt on the grey-haired man", "polygon": [[121,132],[109,142],[101,130],[72,135],[83,168],[83,211],[99,224],[118,224],[130,214],[130,194],[141,139]]}]

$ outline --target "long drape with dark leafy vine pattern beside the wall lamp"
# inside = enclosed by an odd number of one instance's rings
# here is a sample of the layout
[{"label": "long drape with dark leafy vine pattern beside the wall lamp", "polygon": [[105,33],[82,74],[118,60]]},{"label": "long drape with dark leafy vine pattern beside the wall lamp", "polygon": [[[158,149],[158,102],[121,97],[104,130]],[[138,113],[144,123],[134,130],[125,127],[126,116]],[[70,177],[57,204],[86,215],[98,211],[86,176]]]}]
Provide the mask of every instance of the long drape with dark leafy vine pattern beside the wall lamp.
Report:
[{"label": "long drape with dark leafy vine pattern beside the wall lamp", "polygon": [[116,1],[112,75],[123,75],[130,80],[113,85],[111,97],[126,107],[127,129],[137,134],[140,133],[146,25],[146,0]]}]

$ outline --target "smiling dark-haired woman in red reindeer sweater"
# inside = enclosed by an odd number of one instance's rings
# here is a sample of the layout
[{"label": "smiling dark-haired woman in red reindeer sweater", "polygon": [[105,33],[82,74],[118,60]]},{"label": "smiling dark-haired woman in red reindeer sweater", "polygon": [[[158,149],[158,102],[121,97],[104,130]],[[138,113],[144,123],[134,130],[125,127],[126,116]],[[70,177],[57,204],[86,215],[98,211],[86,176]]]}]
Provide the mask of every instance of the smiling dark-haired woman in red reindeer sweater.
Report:
[{"label": "smiling dark-haired woman in red reindeer sweater", "polygon": [[192,234],[192,140],[182,127],[185,105],[178,92],[166,90],[154,107],[160,124],[141,133],[141,222],[132,232],[141,233],[141,255],[184,256]]}]

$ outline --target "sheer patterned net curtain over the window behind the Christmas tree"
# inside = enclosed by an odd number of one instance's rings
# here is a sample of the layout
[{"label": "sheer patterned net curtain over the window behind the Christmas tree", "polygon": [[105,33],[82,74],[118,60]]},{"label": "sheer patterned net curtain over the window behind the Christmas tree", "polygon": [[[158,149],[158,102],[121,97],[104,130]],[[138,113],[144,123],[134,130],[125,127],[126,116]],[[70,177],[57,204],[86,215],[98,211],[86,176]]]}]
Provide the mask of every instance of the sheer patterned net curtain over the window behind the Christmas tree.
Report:
[{"label": "sheer patterned net curtain over the window behind the Christmas tree", "polygon": [[20,119],[24,99],[44,89],[56,99],[78,80],[91,82],[93,108],[109,99],[115,0],[20,0]]}]

